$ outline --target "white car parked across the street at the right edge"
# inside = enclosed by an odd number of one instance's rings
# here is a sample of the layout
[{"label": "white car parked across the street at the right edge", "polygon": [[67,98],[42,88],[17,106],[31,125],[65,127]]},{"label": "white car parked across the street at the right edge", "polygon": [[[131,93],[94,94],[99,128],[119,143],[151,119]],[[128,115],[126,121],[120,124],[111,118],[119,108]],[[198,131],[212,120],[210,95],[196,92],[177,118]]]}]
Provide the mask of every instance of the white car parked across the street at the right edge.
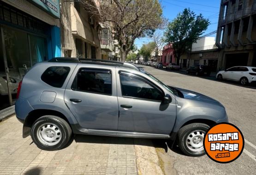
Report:
[{"label": "white car parked across the street at the right edge", "polygon": [[216,75],[219,80],[228,79],[233,81],[239,81],[241,85],[247,85],[256,81],[256,67],[248,66],[236,66],[228,68],[223,71],[219,71]]}]

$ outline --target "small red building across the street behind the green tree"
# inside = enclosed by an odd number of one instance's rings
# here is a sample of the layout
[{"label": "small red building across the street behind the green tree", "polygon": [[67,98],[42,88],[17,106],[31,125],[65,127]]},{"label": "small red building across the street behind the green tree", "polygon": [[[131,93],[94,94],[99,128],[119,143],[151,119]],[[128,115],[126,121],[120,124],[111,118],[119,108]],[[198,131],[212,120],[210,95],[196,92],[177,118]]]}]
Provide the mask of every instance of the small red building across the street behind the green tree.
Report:
[{"label": "small red building across the street behind the green tree", "polygon": [[163,63],[163,66],[167,66],[169,63],[176,63],[172,44],[168,44],[164,46],[162,51],[161,62]]}]

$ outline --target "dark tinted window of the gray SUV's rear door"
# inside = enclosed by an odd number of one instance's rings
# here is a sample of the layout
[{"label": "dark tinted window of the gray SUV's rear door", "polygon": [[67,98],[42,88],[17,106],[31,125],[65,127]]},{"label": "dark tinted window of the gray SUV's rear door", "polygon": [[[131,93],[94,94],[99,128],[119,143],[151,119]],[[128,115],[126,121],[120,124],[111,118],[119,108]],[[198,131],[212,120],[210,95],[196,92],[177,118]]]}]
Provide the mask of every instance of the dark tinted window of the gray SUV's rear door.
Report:
[{"label": "dark tinted window of the gray SUV's rear door", "polygon": [[72,90],[111,95],[111,71],[107,69],[80,69],[71,88]]}]

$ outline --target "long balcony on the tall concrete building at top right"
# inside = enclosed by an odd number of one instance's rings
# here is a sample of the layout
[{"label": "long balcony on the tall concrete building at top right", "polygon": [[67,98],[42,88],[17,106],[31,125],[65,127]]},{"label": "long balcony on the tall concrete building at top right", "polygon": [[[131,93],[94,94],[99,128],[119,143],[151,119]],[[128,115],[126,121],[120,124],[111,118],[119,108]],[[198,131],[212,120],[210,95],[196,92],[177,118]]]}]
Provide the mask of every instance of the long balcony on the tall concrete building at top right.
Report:
[{"label": "long balcony on the tall concrete building at top right", "polygon": [[222,17],[222,19],[220,19],[220,25],[230,23],[241,17],[250,16],[255,13],[256,13],[256,3],[252,4],[251,6],[244,7],[241,10],[236,11],[230,15],[226,15],[226,17]]}]

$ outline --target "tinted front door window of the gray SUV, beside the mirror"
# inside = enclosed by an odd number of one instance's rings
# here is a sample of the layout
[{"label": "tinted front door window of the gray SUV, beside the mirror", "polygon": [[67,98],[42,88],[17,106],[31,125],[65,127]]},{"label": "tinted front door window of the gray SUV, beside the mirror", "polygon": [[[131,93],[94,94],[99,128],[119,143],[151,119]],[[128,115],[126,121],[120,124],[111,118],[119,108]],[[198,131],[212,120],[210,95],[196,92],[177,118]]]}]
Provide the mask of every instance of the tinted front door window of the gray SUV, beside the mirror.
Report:
[{"label": "tinted front door window of the gray SUV, beside the mirror", "polygon": [[120,81],[122,86],[122,96],[130,96],[156,101],[162,101],[163,99],[163,95],[160,90],[152,87],[141,79],[125,74],[120,74]]}]

